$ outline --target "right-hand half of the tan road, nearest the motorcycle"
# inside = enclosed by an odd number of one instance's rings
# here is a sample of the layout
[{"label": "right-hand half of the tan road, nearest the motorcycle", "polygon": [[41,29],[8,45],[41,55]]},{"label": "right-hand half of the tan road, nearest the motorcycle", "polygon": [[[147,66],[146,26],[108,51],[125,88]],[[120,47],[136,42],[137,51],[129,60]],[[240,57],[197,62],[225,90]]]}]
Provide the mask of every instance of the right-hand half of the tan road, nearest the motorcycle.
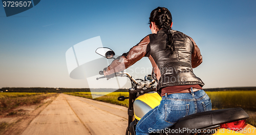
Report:
[{"label": "right-hand half of the tan road, nearest the motorcycle", "polygon": [[[69,102],[70,107],[76,113],[77,117],[88,127],[92,135],[96,134],[125,134],[127,127],[126,111],[118,109],[122,106],[110,107],[92,102],[90,99],[84,99],[71,95],[63,95]],[[115,106],[115,105],[113,105]],[[124,107],[126,108],[126,107]],[[122,115],[119,115],[119,111]]]}]

